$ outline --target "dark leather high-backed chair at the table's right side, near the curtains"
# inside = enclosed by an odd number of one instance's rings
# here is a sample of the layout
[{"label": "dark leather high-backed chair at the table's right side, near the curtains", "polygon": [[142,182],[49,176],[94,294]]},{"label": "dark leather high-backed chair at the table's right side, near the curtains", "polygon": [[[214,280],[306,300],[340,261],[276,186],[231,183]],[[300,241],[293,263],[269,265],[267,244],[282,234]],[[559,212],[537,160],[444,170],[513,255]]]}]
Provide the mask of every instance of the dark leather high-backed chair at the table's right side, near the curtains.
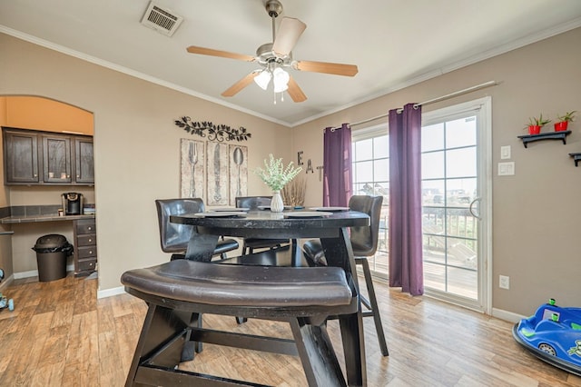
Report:
[{"label": "dark leather high-backed chair at the table's right side, near the curtains", "polygon": [[[353,195],[349,201],[349,208],[352,211],[367,213],[369,215],[369,226],[350,227],[350,242],[355,256],[355,263],[363,269],[365,285],[368,296],[360,296],[361,303],[367,308],[361,312],[363,317],[373,317],[375,330],[378,334],[379,349],[383,356],[388,356],[388,344],[385,340],[383,326],[381,325],[381,316],[379,315],[379,306],[373,287],[371,271],[369,270],[368,257],[372,256],[378,248],[379,240],[379,221],[381,218],[381,204],[383,196]],[[325,266],[327,261],[320,240],[311,239],[302,246],[303,253],[307,261],[315,266]]]}]

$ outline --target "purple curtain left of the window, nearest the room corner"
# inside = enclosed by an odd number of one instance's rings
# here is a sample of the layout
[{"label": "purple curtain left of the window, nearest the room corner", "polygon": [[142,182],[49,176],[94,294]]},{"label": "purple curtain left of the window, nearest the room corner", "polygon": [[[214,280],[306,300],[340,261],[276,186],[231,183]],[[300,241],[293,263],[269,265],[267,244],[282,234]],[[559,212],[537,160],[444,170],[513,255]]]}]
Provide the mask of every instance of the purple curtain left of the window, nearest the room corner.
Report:
[{"label": "purple curtain left of the window, nearest the room corner", "polygon": [[325,128],[323,143],[323,205],[347,207],[353,189],[350,125]]}]

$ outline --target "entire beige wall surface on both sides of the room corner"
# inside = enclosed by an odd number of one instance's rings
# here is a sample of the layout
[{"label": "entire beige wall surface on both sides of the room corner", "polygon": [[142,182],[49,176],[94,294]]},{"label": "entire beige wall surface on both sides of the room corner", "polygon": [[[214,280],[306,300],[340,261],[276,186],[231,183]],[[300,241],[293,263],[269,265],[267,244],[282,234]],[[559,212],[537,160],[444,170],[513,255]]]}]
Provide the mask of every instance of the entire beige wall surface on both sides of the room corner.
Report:
[{"label": "entire beige wall surface on both sides of the room corner", "polygon": [[[564,305],[578,305],[581,300],[576,230],[581,218],[576,202],[581,168],[567,155],[581,152],[581,120],[572,126],[574,132],[566,145],[538,142],[525,149],[517,139],[525,134],[522,128],[529,116],[581,111],[580,41],[581,29],[576,29],[292,130],[6,35],[0,35],[4,54],[0,56],[0,95],[43,95],[94,113],[103,291],[120,286],[123,271],[167,259],[158,246],[153,200],[178,194],[178,143],[188,135],[172,124],[175,118],[189,114],[247,127],[253,135],[248,142],[251,167],[269,152],[295,161],[296,151],[303,151],[305,163],[310,158],[316,166],[322,164],[325,126],[357,122],[489,80],[502,81],[496,87],[426,106],[424,111],[492,96],[493,171],[501,145],[512,146],[511,161],[516,162],[517,171],[515,176],[491,176],[493,306],[529,314],[549,297]],[[306,204],[318,205],[322,188],[316,170],[308,178]],[[256,176],[250,174],[249,181],[249,194],[268,193]],[[498,274],[510,276],[509,291],[497,288]]]}]

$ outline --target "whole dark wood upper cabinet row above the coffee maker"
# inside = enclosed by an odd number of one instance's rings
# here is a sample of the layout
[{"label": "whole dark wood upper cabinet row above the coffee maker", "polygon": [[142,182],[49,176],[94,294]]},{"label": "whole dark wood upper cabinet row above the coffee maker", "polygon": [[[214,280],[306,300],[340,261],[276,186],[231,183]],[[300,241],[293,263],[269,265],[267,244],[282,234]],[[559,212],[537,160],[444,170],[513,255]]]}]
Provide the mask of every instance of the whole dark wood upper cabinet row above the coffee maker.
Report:
[{"label": "whole dark wood upper cabinet row above the coffee maker", "polygon": [[92,136],[5,127],[2,132],[6,185],[94,184]]}]

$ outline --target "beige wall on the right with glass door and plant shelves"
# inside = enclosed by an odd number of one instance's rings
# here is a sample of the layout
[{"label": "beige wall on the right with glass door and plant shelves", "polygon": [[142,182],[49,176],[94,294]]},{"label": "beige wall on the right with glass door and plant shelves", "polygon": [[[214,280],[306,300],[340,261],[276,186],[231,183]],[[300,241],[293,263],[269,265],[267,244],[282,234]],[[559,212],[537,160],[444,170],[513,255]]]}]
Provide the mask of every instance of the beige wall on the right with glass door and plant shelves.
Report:
[{"label": "beige wall on the right with glass door and plant shelves", "polygon": [[[576,168],[568,154],[581,152],[581,118],[570,127],[573,133],[566,145],[545,141],[525,149],[517,139],[517,135],[527,134],[523,127],[530,116],[543,113],[554,118],[566,111],[581,112],[579,42],[581,28],[303,124],[294,128],[294,136],[300,139],[300,149],[311,154],[318,165],[322,163],[321,129],[326,126],[358,122],[409,102],[428,101],[490,80],[502,81],[425,106],[423,111],[492,96],[493,307],[527,315],[550,297],[562,305],[579,306],[581,244],[576,225],[581,219],[581,167]],[[543,130],[550,131],[552,126]],[[502,145],[512,147],[514,176],[497,176]],[[306,201],[318,204],[322,185],[316,174],[309,179]],[[498,288],[499,274],[510,276],[510,290]]]}]

